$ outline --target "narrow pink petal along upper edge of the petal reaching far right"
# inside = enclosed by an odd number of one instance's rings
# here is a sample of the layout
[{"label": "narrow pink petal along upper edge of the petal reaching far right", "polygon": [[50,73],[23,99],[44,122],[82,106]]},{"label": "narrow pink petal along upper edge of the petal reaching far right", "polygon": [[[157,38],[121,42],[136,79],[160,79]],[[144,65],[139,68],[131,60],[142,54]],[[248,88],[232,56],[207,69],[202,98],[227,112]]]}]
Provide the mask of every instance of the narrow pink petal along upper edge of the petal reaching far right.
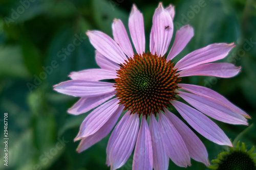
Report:
[{"label": "narrow pink petal along upper edge of the petal reaching far right", "polygon": [[184,89],[191,93],[215,99],[215,100],[221,102],[222,104],[226,105],[226,107],[228,107],[230,110],[232,110],[238,114],[241,114],[246,118],[250,118],[250,116],[247,113],[245,113],[243,110],[241,110],[237,106],[233,105],[226,98],[224,98],[224,96],[222,96],[221,94],[217,93],[214,90],[211,90],[209,88],[202,87],[202,86],[191,85],[191,84],[178,84],[178,86],[181,87],[181,89]]}]

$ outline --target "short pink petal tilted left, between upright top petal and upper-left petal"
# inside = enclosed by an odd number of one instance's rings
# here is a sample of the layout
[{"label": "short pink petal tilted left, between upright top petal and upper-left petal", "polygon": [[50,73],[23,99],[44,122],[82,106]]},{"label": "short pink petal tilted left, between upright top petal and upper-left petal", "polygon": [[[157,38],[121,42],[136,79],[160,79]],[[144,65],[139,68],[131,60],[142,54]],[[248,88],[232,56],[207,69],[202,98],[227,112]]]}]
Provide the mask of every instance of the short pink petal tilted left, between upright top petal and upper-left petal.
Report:
[{"label": "short pink petal tilted left, between upright top petal and upper-left petal", "polygon": [[113,36],[116,43],[119,44],[122,51],[128,56],[133,57],[133,47],[125,30],[123,22],[120,19],[114,19],[112,23]]}]

